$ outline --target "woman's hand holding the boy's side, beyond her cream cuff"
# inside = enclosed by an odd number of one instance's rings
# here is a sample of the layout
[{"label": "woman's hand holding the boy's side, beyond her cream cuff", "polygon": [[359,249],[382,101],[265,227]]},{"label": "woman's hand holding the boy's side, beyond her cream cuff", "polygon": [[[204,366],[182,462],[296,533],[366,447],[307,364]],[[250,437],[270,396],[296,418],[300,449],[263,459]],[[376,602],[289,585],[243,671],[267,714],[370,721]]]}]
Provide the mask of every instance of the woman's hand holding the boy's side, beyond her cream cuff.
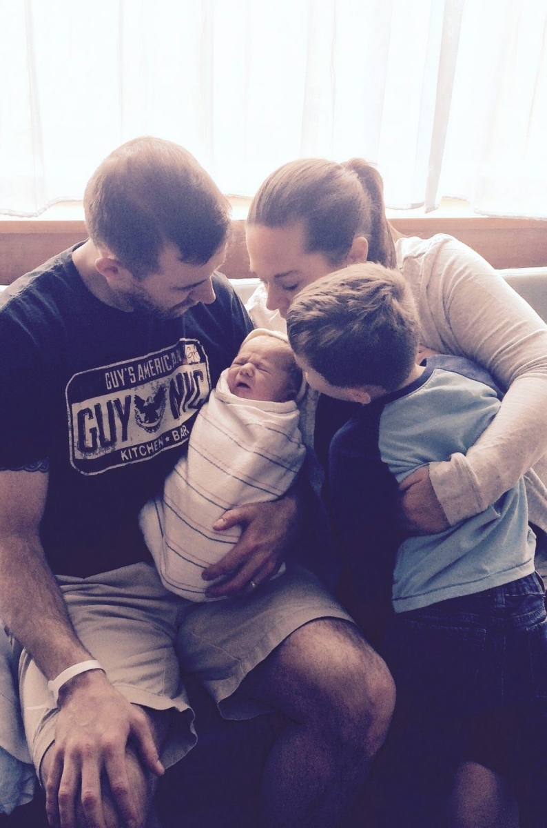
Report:
[{"label": "woman's hand holding the boy's side, beyond her cream cuff", "polygon": [[431,485],[428,466],[421,466],[399,486],[401,525],[413,535],[435,535],[449,528]]}]

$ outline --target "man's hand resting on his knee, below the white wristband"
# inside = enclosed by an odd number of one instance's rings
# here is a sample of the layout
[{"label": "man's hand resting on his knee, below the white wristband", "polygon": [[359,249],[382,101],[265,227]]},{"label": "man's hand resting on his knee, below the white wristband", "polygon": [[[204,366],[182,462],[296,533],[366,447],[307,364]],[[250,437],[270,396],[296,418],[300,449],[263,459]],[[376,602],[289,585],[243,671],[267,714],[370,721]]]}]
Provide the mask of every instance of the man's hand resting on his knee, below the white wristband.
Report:
[{"label": "man's hand resting on his knee, below the white wristband", "polygon": [[[55,743],[45,755],[46,811],[51,826],[78,825],[78,798],[89,828],[106,828],[102,782],[124,826],[144,826],[139,797],[127,773],[126,747],[135,743],[145,768],[164,768],[145,714],[121,696],[104,673],[74,676],[59,691]],[[110,824],[110,823],[108,823]]]}]

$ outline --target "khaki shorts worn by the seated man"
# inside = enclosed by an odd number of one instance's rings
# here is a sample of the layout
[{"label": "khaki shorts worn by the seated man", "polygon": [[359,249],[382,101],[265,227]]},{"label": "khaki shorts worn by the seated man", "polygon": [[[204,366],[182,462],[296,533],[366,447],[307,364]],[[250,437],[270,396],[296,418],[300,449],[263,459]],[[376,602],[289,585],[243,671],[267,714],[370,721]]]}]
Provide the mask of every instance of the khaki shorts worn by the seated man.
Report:
[{"label": "khaki shorts worn by the seated man", "polygon": [[[165,590],[155,567],[145,563],[58,581],[78,637],[117,690],[132,704],[181,714],[174,717],[162,751],[166,768],[197,742],[181,672],[197,676],[225,719],[251,719],[269,707],[237,689],[257,664],[308,621],[351,620],[301,567],[250,596],[202,604]],[[19,679],[26,739],[40,771],[58,711],[45,676],[25,651]]]}]

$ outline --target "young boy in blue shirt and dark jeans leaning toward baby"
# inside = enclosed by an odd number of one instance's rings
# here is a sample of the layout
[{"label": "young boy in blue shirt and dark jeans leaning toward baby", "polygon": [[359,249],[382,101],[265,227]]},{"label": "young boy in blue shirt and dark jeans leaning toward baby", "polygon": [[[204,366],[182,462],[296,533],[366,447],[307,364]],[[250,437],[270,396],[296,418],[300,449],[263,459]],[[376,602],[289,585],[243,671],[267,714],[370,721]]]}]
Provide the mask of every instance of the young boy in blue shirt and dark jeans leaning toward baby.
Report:
[{"label": "young boy in blue shirt and dark jeans leaning toward baby", "polygon": [[547,620],[524,484],[426,537],[399,534],[392,497],[414,469],[464,455],[496,416],[496,393],[455,368],[416,363],[410,288],[378,264],[307,286],[287,325],[312,388],[363,405],[332,440],[328,469],[355,595],[381,604],[392,567],[383,657],[397,705],[371,824],[445,826],[466,749],[496,733],[497,770],[511,782],[521,826],[545,826]]}]

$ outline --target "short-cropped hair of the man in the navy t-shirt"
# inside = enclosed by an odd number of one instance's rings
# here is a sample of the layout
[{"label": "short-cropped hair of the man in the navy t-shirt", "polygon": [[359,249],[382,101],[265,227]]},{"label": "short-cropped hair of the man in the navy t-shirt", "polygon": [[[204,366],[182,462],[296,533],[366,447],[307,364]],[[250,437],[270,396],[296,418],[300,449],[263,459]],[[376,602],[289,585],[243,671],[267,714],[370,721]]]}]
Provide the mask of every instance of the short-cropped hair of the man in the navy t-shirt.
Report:
[{"label": "short-cropped hair of the man in the navy t-shirt", "polygon": [[140,137],[112,152],[88,181],[83,208],[89,237],[136,277],[158,267],[173,243],[182,261],[205,264],[226,241],[230,204],[190,152]]}]

